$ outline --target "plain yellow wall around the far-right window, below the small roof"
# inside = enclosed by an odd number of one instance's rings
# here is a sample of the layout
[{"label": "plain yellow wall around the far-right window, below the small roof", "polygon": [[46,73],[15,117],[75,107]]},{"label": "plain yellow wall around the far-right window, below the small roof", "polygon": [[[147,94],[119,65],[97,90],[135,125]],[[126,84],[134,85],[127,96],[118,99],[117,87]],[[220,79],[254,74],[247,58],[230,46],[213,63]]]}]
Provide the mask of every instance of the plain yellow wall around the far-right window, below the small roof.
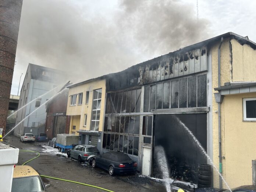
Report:
[{"label": "plain yellow wall around the far-right window, below the small roof", "polygon": [[225,177],[231,188],[252,185],[252,160],[256,159],[256,122],[243,121],[243,98],[249,97],[256,97],[256,93],[224,97]]}]

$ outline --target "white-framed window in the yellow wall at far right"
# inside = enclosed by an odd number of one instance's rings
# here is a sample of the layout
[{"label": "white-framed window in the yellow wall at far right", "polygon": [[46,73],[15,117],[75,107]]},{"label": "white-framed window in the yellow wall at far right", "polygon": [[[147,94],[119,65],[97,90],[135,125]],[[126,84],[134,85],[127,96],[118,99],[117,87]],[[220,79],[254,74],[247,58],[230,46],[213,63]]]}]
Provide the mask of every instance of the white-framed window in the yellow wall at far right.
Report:
[{"label": "white-framed window in the yellow wall at far right", "polygon": [[256,121],[256,97],[243,99],[243,120]]}]

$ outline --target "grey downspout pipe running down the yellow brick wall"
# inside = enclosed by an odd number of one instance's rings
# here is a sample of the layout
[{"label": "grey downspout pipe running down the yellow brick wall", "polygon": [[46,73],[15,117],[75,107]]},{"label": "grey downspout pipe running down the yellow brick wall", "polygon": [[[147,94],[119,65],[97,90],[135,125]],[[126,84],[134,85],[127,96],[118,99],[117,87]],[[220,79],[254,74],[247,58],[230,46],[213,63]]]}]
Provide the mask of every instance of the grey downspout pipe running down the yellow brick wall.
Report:
[{"label": "grey downspout pipe running down the yellow brick wall", "polygon": [[[218,46],[218,87],[220,87],[220,47],[223,43],[223,37],[220,40],[220,45]],[[219,171],[222,174],[222,155],[221,155],[221,125],[220,125],[220,102],[218,102],[218,136],[219,136]],[[222,179],[219,176],[220,189],[222,189]]]}]

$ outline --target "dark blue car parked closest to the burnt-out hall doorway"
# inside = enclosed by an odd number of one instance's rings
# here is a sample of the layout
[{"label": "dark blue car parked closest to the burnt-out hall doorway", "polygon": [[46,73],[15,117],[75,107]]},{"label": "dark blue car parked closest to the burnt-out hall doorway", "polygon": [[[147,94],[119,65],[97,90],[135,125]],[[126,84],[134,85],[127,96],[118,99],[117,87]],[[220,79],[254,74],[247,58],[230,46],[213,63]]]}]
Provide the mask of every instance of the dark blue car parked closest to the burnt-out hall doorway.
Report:
[{"label": "dark blue car parked closest to the burnt-out hall doorway", "polygon": [[137,168],[137,162],[123,152],[111,151],[93,157],[92,167],[96,166],[108,170],[110,175],[114,175],[134,173]]}]

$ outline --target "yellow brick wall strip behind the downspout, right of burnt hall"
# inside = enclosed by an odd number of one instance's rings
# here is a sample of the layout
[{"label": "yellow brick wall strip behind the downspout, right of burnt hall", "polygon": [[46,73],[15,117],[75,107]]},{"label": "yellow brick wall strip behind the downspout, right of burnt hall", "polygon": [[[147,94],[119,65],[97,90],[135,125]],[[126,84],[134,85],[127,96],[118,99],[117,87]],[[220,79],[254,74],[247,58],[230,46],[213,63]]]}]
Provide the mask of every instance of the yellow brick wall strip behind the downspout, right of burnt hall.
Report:
[{"label": "yellow brick wall strip behind the downspout, right of burnt hall", "polygon": [[[214,88],[218,87],[218,46],[220,42],[217,42],[211,47],[211,63],[212,63],[212,92],[217,93]],[[225,82],[232,81],[232,65],[231,65],[231,51],[229,38],[224,39],[220,49],[220,63],[221,63],[221,86]],[[215,102],[214,94],[213,99],[213,163],[219,168],[219,150],[218,150],[218,113],[214,111],[218,110],[218,104]],[[221,142],[222,142],[222,155],[225,156],[225,134],[224,134],[224,104],[221,104]],[[225,178],[225,160],[222,161],[223,177]],[[216,171],[213,174],[214,187],[219,187],[219,175]],[[223,184],[224,187],[224,184]],[[226,187],[225,187],[226,188]]]}]

